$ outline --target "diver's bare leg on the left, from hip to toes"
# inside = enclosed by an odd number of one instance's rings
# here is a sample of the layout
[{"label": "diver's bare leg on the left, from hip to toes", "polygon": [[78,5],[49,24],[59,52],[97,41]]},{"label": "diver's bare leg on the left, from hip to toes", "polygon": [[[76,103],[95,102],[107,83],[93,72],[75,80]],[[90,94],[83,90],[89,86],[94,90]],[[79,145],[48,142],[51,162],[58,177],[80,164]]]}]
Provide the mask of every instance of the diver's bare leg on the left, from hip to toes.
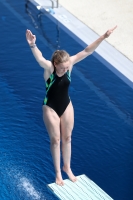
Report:
[{"label": "diver's bare leg on the left, from hip to toes", "polygon": [[43,106],[43,119],[50,137],[50,149],[53,158],[58,185],[64,185],[60,169],[60,118],[54,110]]}]

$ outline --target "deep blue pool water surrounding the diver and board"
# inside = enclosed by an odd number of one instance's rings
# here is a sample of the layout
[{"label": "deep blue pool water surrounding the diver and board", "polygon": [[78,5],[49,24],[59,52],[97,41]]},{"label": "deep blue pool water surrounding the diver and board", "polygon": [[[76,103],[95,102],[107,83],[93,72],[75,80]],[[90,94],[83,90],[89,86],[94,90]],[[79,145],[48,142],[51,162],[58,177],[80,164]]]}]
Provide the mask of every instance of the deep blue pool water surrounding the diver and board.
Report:
[{"label": "deep blue pool water surrounding the diver and board", "polygon": [[[0,200],[57,199],[46,187],[54,169],[42,120],[45,83],[27,28],[46,59],[57,47],[71,55],[82,50],[46,14],[33,21],[25,1],[0,0]],[[75,175],[86,174],[115,200],[133,200],[132,89],[91,55],[74,67],[69,93]]]}]

